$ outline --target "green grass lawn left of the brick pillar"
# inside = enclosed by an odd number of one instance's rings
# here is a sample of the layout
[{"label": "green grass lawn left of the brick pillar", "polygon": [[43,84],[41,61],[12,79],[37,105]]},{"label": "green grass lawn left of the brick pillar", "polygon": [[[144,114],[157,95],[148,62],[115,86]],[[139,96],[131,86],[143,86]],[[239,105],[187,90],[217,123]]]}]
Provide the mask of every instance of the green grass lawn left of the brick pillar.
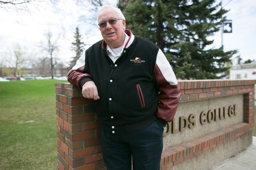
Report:
[{"label": "green grass lawn left of the brick pillar", "polygon": [[0,170],[56,170],[60,80],[0,82]]}]

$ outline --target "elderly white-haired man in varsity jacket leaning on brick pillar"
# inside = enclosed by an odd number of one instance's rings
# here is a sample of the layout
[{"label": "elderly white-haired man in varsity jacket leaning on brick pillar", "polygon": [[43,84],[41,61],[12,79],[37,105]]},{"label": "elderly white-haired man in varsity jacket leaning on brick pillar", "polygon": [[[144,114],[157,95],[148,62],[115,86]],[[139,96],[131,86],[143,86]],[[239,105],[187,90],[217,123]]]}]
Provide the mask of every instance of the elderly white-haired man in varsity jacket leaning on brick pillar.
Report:
[{"label": "elderly white-haired man in varsity jacket leaning on brick pillar", "polygon": [[108,170],[157,170],[163,130],[172,121],[180,88],[163,52],[125,29],[120,9],[100,7],[103,40],[68,72],[68,81],[94,99],[101,147]]}]

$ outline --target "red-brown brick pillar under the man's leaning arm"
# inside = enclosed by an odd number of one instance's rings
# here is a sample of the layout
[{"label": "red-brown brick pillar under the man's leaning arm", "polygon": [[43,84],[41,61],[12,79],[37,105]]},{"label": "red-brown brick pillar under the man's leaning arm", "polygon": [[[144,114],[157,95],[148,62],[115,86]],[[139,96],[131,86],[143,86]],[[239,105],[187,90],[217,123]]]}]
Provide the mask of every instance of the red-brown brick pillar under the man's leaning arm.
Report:
[{"label": "red-brown brick pillar under the man's leaning arm", "polygon": [[56,83],[59,170],[104,170],[100,124],[93,100],[69,83]]}]

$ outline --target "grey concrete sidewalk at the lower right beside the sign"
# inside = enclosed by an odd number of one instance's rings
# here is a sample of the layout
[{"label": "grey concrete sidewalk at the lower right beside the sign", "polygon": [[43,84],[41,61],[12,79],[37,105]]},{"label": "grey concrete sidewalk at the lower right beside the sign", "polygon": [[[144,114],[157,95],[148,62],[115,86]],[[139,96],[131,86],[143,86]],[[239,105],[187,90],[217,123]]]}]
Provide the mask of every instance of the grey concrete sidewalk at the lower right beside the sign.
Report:
[{"label": "grey concrete sidewalk at the lower right beside the sign", "polygon": [[236,156],[215,166],[212,170],[256,170],[256,137],[252,137],[252,145]]}]

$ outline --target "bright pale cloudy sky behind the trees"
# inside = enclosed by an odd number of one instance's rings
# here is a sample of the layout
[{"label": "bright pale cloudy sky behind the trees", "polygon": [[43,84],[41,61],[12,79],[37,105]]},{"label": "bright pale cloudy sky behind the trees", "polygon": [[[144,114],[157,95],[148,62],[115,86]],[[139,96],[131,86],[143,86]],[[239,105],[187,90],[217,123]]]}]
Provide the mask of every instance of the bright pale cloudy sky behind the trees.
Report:
[{"label": "bright pale cloudy sky behind the trees", "polygon": [[[228,20],[232,20],[232,33],[222,34],[224,51],[238,50],[242,62],[250,59],[256,60],[255,31],[256,31],[256,1],[255,0],[217,0],[222,1],[224,9],[229,10],[225,14]],[[110,1],[115,5],[117,0]],[[5,11],[0,8],[0,62],[11,58],[13,50],[20,45],[21,50],[27,55],[40,54],[41,47],[46,46],[45,33],[51,31],[53,41],[58,40],[58,58],[69,64],[74,52],[71,51],[71,43],[74,41],[76,26],[86,48],[102,39],[100,30],[96,26],[89,26],[80,19],[80,16],[87,15],[88,11],[82,5],[76,5],[74,0],[60,1],[58,8],[41,4],[42,8],[29,6],[26,11]],[[52,12],[60,10],[60,12]],[[90,34],[90,35],[89,35]],[[221,31],[209,37],[214,43],[211,47],[220,48]],[[237,56],[236,55],[236,56]],[[235,56],[234,56],[235,57]],[[236,60],[233,60],[236,63]],[[1,66],[1,63],[0,63]]]}]

